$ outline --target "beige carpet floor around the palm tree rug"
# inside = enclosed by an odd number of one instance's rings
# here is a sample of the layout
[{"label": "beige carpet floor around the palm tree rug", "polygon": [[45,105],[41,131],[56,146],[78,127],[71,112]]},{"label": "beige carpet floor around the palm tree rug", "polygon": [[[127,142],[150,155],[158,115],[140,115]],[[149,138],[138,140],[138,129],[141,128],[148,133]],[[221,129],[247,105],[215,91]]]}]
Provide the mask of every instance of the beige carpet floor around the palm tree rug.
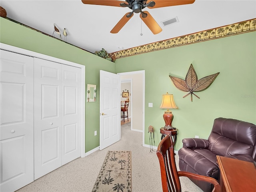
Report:
[{"label": "beige carpet floor around the palm tree rug", "polygon": [[[69,162],[18,192],[91,192],[109,150],[132,152],[132,192],[162,192],[156,152],[142,146],[142,132],[131,131],[130,123],[121,126],[121,140],[112,146]],[[178,155],[175,160],[178,166]],[[181,178],[181,186],[183,192],[202,192],[188,178]]]}]

